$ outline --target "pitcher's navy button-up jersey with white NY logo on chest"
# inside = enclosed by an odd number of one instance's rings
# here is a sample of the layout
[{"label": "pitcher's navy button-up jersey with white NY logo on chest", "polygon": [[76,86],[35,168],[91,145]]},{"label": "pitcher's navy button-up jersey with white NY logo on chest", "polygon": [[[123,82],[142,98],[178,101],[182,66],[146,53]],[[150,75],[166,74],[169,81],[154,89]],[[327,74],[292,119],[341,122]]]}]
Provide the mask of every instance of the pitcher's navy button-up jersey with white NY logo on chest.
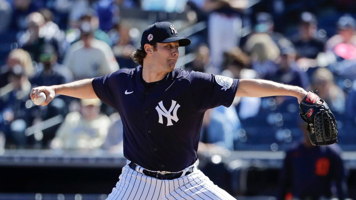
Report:
[{"label": "pitcher's navy button-up jersey with white NY logo on chest", "polygon": [[146,88],[142,67],[93,80],[96,95],[119,112],[124,156],[152,171],[177,172],[197,160],[204,112],[234,100],[238,79],[176,68]]}]

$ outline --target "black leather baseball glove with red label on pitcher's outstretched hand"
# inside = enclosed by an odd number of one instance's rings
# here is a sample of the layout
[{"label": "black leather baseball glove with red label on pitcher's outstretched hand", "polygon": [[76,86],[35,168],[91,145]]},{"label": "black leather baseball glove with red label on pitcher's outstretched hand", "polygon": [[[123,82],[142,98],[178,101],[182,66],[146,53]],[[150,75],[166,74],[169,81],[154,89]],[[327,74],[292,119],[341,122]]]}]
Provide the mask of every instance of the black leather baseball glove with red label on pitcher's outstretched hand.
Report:
[{"label": "black leather baseball glove with red label on pitcher's outstretched hand", "polygon": [[[318,101],[323,104],[318,103]],[[313,145],[331,145],[337,141],[336,119],[328,104],[313,91],[299,104],[300,117],[307,123],[310,142]]]}]

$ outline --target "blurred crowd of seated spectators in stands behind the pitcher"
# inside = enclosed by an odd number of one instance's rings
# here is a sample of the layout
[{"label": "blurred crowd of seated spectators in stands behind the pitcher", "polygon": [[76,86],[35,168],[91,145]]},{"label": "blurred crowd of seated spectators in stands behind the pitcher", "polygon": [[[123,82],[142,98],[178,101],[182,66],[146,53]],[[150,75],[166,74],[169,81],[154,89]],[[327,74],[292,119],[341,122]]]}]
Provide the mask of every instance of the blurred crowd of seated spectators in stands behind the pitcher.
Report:
[{"label": "blurred crowd of seated spectators in stands behind the pitcher", "polygon": [[[317,90],[336,115],[341,147],[355,150],[352,6],[352,0],[0,0],[0,145],[121,151],[120,116],[98,99],[58,96],[42,107],[28,94],[136,67],[130,54],[141,34],[126,21],[130,10],[185,13],[189,26],[206,23],[188,36],[184,54],[194,59],[180,66],[186,70]],[[285,150],[303,140],[298,113],[292,97],[236,98],[234,106],[205,114],[200,151]]]}]

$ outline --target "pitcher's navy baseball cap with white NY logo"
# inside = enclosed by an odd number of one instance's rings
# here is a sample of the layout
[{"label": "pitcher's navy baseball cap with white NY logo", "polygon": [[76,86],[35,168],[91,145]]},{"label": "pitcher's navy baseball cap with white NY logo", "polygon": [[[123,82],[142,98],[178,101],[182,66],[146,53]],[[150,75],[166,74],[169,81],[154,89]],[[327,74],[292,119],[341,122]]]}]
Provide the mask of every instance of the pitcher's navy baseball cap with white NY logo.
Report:
[{"label": "pitcher's navy baseball cap with white NY logo", "polygon": [[156,22],[142,33],[141,47],[145,44],[169,43],[179,41],[179,47],[188,46],[190,39],[178,37],[176,27],[170,22]]}]

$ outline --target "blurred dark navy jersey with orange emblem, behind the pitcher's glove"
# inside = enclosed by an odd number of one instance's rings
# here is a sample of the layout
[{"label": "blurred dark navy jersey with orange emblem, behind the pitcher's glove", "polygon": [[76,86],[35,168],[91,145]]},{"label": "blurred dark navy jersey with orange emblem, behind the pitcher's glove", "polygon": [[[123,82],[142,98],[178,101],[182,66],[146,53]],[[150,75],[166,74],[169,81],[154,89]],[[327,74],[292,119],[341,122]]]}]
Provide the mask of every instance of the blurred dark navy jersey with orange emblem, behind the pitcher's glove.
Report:
[{"label": "blurred dark navy jersey with orange emblem, behind the pitcher's glove", "polygon": [[287,191],[291,191],[293,198],[297,199],[331,198],[332,182],[336,186],[337,198],[344,199],[344,181],[341,157],[331,146],[308,148],[299,144],[286,152],[279,199],[284,199]]}]

